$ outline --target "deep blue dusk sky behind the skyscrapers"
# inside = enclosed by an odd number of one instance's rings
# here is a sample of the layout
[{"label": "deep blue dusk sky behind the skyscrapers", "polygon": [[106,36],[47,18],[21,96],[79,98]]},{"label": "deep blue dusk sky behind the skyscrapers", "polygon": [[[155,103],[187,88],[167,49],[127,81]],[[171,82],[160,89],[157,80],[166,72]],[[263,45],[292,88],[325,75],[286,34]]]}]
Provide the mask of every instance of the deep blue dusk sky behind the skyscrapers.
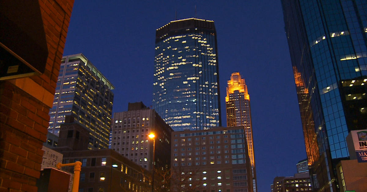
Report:
[{"label": "deep blue dusk sky behind the skyscrapers", "polygon": [[113,112],[152,105],[156,29],[175,19],[214,20],[222,125],[226,81],[238,71],[251,99],[258,192],[306,158],[280,0],[75,1],[64,55],[83,53],[116,87]]}]

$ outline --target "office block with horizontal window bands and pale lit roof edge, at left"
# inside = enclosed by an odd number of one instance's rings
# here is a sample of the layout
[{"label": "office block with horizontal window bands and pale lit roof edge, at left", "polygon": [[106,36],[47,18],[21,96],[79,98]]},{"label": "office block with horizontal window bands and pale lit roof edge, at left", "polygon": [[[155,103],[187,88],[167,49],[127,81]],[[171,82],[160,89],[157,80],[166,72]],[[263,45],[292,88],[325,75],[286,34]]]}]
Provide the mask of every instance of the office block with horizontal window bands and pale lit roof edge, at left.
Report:
[{"label": "office block with horizontal window bands and pale lit roof edge, at left", "polygon": [[65,116],[91,134],[92,148],[108,148],[115,87],[83,54],[62,57],[48,131],[58,135]]}]

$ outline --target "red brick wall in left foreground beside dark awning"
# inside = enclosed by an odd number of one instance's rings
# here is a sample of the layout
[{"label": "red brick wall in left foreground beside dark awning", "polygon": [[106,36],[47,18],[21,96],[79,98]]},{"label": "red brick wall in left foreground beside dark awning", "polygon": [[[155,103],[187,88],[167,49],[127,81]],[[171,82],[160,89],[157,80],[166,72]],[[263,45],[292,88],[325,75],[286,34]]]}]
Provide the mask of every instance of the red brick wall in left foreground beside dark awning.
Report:
[{"label": "red brick wall in left foreground beside dark awning", "polygon": [[41,76],[0,82],[0,192],[36,192],[74,0],[39,0],[48,59]]}]

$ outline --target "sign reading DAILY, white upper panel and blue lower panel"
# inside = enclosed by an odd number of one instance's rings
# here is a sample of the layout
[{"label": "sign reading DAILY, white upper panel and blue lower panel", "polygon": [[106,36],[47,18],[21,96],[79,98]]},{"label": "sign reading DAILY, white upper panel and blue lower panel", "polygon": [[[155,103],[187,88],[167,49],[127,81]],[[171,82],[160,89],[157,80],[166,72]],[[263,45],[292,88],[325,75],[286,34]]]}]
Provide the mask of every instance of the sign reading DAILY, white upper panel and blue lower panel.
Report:
[{"label": "sign reading DAILY, white upper panel and blue lower panel", "polygon": [[367,129],[351,131],[359,163],[367,162]]}]

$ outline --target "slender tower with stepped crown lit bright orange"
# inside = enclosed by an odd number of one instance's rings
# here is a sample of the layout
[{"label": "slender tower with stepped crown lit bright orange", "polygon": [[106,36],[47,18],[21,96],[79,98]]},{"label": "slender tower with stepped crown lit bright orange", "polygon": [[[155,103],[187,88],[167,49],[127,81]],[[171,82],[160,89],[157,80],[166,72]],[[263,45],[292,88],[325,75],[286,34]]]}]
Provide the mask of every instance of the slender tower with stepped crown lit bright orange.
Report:
[{"label": "slender tower with stepped crown lit bright orange", "polygon": [[227,81],[226,111],[227,126],[244,126],[248,156],[250,157],[252,168],[253,188],[256,192],[256,169],[254,143],[252,140],[251,112],[250,112],[250,95],[248,95],[245,79],[241,78],[239,72],[234,72]]}]

